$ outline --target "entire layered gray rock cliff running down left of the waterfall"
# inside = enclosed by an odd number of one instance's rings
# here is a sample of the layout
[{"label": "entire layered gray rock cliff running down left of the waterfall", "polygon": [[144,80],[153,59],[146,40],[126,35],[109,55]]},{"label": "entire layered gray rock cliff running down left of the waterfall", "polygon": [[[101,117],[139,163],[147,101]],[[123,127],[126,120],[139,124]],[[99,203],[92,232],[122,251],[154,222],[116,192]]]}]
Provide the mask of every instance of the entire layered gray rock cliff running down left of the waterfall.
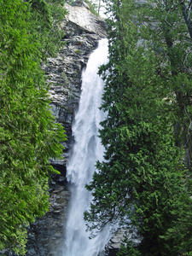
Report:
[{"label": "entire layered gray rock cliff running down left of the waterfall", "polygon": [[64,160],[51,160],[60,176],[53,177],[50,183],[50,208],[44,218],[31,224],[27,244],[27,256],[61,256],[64,223],[67,214],[69,193],[65,188],[66,161],[70,144],[73,141],[73,115],[79,105],[81,91],[81,73],[89,59],[90,52],[96,49],[98,40],[106,38],[106,24],[102,18],[90,13],[86,5],[77,1],[70,6],[67,17],[61,23],[66,45],[55,58],[49,58],[43,65],[44,72],[49,77],[51,109],[56,121],[67,131],[67,143]]}]

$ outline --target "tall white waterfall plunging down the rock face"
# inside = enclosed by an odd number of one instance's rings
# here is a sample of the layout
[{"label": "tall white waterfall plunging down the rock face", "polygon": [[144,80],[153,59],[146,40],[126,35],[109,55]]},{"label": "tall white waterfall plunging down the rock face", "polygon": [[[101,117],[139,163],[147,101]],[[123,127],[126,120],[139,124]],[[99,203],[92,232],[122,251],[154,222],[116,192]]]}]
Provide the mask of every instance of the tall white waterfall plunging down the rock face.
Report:
[{"label": "tall white waterfall plunging down the rock face", "polygon": [[67,164],[67,181],[71,184],[65,247],[63,256],[96,256],[110,239],[109,229],[96,238],[89,239],[84,223],[84,211],[90,207],[91,195],[84,188],[95,172],[96,160],[102,160],[103,148],[98,137],[104,113],[102,104],[103,81],[97,75],[98,67],[108,61],[108,40],[102,39],[98,48],[90,55],[82,73],[82,92],[79,111],[73,124],[73,153]]}]

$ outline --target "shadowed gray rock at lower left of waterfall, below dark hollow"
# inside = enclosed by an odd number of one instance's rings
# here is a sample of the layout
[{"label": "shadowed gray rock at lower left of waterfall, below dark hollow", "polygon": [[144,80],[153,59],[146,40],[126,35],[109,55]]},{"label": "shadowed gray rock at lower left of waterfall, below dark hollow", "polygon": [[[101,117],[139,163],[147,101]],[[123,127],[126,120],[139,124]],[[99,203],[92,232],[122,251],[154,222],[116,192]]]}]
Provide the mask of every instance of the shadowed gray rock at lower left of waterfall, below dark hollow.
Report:
[{"label": "shadowed gray rock at lower left of waterfall, below dark hollow", "polygon": [[28,230],[27,256],[59,256],[63,243],[64,222],[67,218],[69,192],[55,184],[49,197],[49,212]]}]

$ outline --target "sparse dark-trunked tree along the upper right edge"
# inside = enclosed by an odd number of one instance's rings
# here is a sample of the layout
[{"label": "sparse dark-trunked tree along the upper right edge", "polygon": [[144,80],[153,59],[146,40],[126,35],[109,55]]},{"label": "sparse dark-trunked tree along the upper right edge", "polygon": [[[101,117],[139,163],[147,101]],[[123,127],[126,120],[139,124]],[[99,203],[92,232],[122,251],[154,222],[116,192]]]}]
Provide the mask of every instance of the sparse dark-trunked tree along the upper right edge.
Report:
[{"label": "sparse dark-trunked tree along the upper right edge", "polygon": [[[184,3],[183,3],[184,4]],[[153,20],[146,20],[147,29],[143,32],[153,40],[154,51],[159,49],[160,72],[163,75],[165,69],[165,81],[169,87],[168,97],[170,104],[169,111],[173,111],[172,122],[177,124],[175,127],[177,143],[185,148],[185,161],[191,170],[192,144],[191,144],[191,54],[190,54],[190,22],[186,22],[183,17],[183,5],[177,1],[165,1],[160,3],[148,4],[145,9],[143,20],[148,16]],[[190,13],[189,13],[190,15]],[[188,15],[188,18],[190,17]],[[144,17],[145,16],[145,17]],[[148,31],[148,32],[147,32]],[[161,50],[160,50],[161,49]],[[166,90],[166,88],[164,89]],[[166,113],[167,115],[167,113]],[[179,126],[179,130],[177,127]]]}]

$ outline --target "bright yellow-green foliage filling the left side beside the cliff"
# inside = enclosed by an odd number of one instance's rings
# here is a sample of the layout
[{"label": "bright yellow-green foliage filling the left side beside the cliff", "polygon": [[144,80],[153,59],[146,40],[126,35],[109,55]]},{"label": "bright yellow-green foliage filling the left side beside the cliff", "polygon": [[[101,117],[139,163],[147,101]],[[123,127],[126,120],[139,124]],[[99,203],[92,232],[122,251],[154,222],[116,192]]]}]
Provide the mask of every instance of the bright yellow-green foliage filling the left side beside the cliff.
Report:
[{"label": "bright yellow-green foliage filling the left side beside the cliff", "polygon": [[0,0],[0,250],[25,254],[26,227],[49,208],[49,158],[64,129],[40,65],[61,47],[60,0]]}]

